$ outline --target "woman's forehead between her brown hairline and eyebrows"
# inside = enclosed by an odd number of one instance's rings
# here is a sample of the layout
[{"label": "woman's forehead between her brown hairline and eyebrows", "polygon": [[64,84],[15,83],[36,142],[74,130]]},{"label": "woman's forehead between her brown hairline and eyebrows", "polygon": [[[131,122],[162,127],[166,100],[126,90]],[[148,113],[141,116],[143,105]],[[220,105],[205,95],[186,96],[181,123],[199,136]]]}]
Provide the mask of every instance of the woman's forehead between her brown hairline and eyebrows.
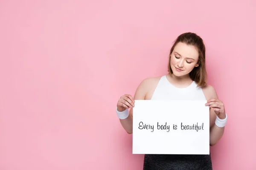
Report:
[{"label": "woman's forehead between her brown hairline and eyebrows", "polygon": [[198,51],[193,45],[187,45],[186,43],[179,42],[175,46],[173,52],[179,53],[182,57],[198,59]]}]

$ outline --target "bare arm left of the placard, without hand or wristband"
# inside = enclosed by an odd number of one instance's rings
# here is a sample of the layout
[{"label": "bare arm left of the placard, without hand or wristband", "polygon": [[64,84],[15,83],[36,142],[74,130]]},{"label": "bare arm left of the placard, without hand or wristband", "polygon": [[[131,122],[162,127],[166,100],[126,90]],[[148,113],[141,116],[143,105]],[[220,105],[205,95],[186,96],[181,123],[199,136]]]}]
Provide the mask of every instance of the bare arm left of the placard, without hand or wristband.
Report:
[{"label": "bare arm left of the placard, without hand or wristband", "polygon": [[[147,92],[147,79],[144,79],[140,85],[138,86],[135,94],[134,94],[134,99],[135,100],[144,100],[145,95]],[[136,103],[134,103],[136,105]],[[132,133],[132,117],[133,117],[133,108],[131,107],[129,111],[129,116],[126,119],[119,119],[122,127],[126,130],[127,133],[131,134]]]}]

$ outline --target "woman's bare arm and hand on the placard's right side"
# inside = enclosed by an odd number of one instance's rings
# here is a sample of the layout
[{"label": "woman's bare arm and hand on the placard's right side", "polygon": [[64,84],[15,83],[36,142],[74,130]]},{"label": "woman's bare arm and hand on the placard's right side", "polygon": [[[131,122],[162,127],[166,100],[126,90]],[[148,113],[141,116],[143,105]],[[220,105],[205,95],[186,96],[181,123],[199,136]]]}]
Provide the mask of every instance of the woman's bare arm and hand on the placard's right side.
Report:
[{"label": "woman's bare arm and hand on the placard's right side", "polygon": [[225,127],[218,127],[215,125],[216,116],[220,119],[226,118],[226,112],[223,103],[218,99],[218,95],[215,89],[210,86],[209,89],[209,96],[210,99],[207,101],[210,109],[210,119],[211,119],[211,126],[210,126],[210,146],[214,146],[218,143],[221,137],[224,134]]}]

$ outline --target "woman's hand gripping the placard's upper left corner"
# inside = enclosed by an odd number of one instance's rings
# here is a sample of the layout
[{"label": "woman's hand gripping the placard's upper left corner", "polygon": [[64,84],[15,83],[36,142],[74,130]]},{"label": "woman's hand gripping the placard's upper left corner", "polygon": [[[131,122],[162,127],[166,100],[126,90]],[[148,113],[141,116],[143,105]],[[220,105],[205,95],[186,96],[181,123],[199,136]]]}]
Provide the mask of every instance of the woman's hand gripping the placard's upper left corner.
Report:
[{"label": "woman's hand gripping the placard's upper left corner", "polygon": [[134,103],[134,98],[131,95],[124,94],[117,102],[117,111],[124,111],[125,109],[133,108]]}]

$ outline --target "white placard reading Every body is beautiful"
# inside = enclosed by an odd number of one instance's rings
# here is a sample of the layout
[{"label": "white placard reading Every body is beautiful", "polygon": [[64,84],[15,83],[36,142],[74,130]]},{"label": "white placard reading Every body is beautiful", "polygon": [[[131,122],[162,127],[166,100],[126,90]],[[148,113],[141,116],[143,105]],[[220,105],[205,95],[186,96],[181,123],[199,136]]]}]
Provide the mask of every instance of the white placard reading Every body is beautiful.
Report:
[{"label": "white placard reading Every body is beautiful", "polygon": [[133,154],[208,154],[206,100],[135,100]]}]

